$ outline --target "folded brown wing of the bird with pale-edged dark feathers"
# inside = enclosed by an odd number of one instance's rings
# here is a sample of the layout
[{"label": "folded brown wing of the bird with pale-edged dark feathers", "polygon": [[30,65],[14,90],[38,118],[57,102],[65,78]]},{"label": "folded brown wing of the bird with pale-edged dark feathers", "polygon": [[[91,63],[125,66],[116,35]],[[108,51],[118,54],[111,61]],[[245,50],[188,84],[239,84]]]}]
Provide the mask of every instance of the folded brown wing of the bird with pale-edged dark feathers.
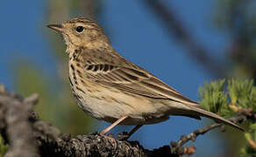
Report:
[{"label": "folded brown wing of the bird with pale-edged dark feathers", "polygon": [[153,99],[172,99],[193,106],[198,105],[195,101],[182,96],[181,93],[141,68],[90,64],[86,65],[85,71],[91,73],[98,84],[116,87],[123,92],[139,94]]}]

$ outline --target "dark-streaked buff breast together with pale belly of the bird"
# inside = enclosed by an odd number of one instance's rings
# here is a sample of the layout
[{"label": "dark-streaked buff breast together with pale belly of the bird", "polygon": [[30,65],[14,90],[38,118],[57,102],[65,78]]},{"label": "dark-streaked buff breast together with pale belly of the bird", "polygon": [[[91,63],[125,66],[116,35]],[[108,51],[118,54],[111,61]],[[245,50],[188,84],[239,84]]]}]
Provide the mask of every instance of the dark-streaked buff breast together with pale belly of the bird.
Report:
[{"label": "dark-streaked buff breast together with pale belly of the bird", "polygon": [[123,125],[152,124],[168,119],[167,113],[163,112],[168,109],[166,105],[86,81],[78,74],[76,77],[74,75],[75,71],[69,69],[70,85],[78,106],[96,119],[113,123],[127,115],[128,118],[121,123]]}]

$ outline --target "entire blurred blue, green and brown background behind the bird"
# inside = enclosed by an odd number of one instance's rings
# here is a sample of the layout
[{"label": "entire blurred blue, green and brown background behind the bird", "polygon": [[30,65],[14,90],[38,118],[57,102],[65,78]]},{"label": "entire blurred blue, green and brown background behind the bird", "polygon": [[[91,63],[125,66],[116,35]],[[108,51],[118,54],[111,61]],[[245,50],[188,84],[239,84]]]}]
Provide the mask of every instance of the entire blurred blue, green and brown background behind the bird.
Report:
[{"label": "entire blurred blue, green and brown background behind the bird", "polygon": [[[217,78],[256,78],[256,2],[252,0],[25,0],[0,5],[0,82],[9,91],[40,95],[36,111],[63,133],[91,133],[110,124],[89,118],[68,85],[60,34],[46,28],[70,17],[95,19],[114,48],[190,99]],[[210,124],[171,117],[132,136],[148,149]],[[118,126],[112,133],[129,131]],[[243,134],[219,129],[200,136],[195,156],[238,156]]]}]

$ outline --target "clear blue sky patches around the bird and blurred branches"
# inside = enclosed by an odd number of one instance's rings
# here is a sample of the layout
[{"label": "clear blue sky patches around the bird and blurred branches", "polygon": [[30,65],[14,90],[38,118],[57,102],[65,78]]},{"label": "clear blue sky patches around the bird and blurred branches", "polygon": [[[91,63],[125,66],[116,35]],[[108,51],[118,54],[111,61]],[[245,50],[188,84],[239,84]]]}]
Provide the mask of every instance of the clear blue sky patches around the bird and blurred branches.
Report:
[{"label": "clear blue sky patches around the bird and blurred branches", "polygon": [[[167,3],[167,1],[163,1]],[[215,52],[211,55],[224,58],[229,37],[217,31],[213,26],[212,16],[215,13],[216,1],[209,0],[173,0],[176,14],[181,17],[185,27],[200,44]],[[152,72],[168,85],[190,99],[198,100],[197,90],[204,81],[210,81],[212,75],[202,65],[186,55],[186,49],[170,36],[161,21],[144,3],[135,0],[103,1],[102,13],[98,19],[110,40],[119,53],[133,63]],[[15,90],[11,65],[13,58],[27,58],[39,65],[44,75],[56,75],[57,64],[53,57],[53,49],[47,41],[46,1],[3,1],[0,5],[0,82],[10,91]],[[101,123],[100,129],[108,126]],[[140,138],[146,148],[160,147],[169,144],[170,140],[178,140],[181,134],[191,133],[203,126],[203,121],[183,117],[171,117],[166,122],[143,126],[132,140]],[[224,141],[210,132],[199,137],[195,144],[196,156],[209,153],[216,156],[224,150]],[[207,145],[205,143],[207,142]],[[216,152],[216,148],[219,152]],[[212,154],[212,153],[215,154]]]}]

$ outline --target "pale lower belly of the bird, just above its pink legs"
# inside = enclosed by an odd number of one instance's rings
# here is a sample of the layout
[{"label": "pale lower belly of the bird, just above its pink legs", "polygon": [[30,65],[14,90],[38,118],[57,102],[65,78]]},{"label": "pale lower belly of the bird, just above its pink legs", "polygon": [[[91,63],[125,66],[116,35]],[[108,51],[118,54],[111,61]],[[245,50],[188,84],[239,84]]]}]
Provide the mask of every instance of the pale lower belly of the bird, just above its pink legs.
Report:
[{"label": "pale lower belly of the bird, just above its pink legs", "polygon": [[[168,119],[168,116],[160,112],[167,106],[152,104],[147,99],[132,97],[124,93],[113,94],[113,92],[107,90],[105,92],[97,92],[93,97],[82,92],[76,92],[76,94],[80,95],[80,97],[76,97],[78,106],[85,113],[110,123],[115,122],[124,115],[128,115],[129,118],[125,119],[121,124],[132,126],[152,124]],[[159,110],[159,108],[161,109]]]}]

